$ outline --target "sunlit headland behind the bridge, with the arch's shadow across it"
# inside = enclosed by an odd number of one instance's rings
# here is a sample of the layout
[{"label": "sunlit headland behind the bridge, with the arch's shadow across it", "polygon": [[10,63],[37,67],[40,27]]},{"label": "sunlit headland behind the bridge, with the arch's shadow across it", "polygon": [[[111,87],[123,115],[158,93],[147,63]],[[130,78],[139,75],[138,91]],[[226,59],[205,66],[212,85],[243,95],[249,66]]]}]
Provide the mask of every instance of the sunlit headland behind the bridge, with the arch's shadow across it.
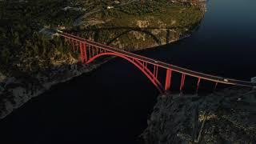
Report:
[{"label": "sunlit headland behind the bridge, with the arch's shadow across it", "polygon": [[[86,38],[126,50],[158,46],[190,34],[203,18],[201,5],[136,1],[88,15],[77,31]],[[96,6],[97,7],[97,6]],[[166,35],[170,34],[170,38]]]}]

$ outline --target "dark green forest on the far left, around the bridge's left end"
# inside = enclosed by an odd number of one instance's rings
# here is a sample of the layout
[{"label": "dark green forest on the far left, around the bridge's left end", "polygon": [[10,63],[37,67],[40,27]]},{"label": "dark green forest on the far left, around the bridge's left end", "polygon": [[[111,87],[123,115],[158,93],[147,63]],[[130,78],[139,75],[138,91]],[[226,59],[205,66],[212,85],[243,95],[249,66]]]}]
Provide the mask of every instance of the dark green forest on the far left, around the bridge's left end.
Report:
[{"label": "dark green forest on the far left, around the bridge's left end", "polygon": [[43,26],[71,26],[79,12],[62,10],[66,0],[0,2],[0,70],[35,72],[69,53],[59,38],[38,34]]}]

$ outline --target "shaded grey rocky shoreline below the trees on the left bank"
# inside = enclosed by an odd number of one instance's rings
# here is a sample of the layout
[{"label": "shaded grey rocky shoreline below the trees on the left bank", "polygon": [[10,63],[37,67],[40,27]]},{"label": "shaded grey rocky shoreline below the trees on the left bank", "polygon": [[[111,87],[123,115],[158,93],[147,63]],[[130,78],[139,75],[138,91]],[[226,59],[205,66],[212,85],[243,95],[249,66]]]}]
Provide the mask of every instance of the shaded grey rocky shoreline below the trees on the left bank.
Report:
[{"label": "shaded grey rocky shoreline below the trees on the left bank", "polygon": [[0,73],[0,119],[5,118],[13,110],[18,109],[31,98],[50,90],[61,82],[95,70],[101,64],[85,65],[79,62],[54,66],[44,70],[33,78],[6,77]]}]

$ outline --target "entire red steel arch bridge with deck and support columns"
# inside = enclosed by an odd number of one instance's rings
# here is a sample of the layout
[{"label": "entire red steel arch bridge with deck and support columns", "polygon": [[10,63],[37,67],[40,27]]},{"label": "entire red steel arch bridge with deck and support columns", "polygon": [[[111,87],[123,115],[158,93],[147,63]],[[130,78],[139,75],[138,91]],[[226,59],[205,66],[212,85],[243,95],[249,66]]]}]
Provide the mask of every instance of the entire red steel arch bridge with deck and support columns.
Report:
[{"label": "entire red steel arch bridge with deck and support columns", "polygon": [[[198,91],[199,84],[200,82],[202,82],[202,80],[214,82],[215,89],[218,83],[233,86],[254,87],[254,83],[252,82],[240,81],[231,78],[222,78],[210,74],[199,73],[193,70],[187,70],[179,66],[170,65],[166,62],[156,61],[152,58],[146,58],[142,55],[133,54],[125,50],[118,50],[111,46],[100,44],[98,42],[92,42],[90,40],[86,40],[85,38],[80,38],[72,34],[66,34],[60,30],[57,31],[57,34],[64,37],[66,42],[70,42],[70,44],[73,46],[74,51],[80,52],[81,61],[83,63],[89,64],[90,62],[93,62],[94,59],[102,57],[104,55],[114,55],[126,59],[128,62],[134,64],[134,66],[138,67],[138,69],[141,70],[142,73],[150,79],[150,81],[160,91],[160,93],[165,93],[166,90],[170,89],[171,77],[173,72],[182,75],[180,84],[181,91],[184,87],[187,76],[198,79],[196,91]],[[149,66],[153,66],[154,68],[150,69]],[[165,82],[160,82],[158,78],[158,70],[160,68],[166,70]]]}]

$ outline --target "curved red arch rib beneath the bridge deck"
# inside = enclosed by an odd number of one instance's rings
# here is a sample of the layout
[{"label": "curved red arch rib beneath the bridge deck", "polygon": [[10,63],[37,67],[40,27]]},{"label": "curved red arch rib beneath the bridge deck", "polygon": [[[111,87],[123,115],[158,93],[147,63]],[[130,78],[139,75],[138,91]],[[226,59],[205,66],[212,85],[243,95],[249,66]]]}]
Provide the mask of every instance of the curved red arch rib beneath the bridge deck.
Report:
[{"label": "curved red arch rib beneath the bridge deck", "polygon": [[117,56],[119,58],[125,59],[126,61],[130,62],[131,64],[134,64],[134,66],[136,66],[138,68],[138,70],[141,70],[142,73],[145,74],[146,77],[150,79],[150,82],[152,82],[154,84],[154,86],[161,93],[164,92],[161,82],[158,81],[158,78],[155,78],[154,74],[152,74],[152,72],[146,66],[144,66],[142,62],[139,62],[138,60],[135,60],[133,58],[128,58],[125,55],[117,54],[117,53],[113,53],[113,52],[101,53],[101,54],[97,54],[94,57],[90,58],[86,62],[86,64],[89,64],[90,62],[93,62],[96,58],[99,58],[99,57],[102,57],[102,56],[105,56],[105,55],[114,55],[114,56]]}]

